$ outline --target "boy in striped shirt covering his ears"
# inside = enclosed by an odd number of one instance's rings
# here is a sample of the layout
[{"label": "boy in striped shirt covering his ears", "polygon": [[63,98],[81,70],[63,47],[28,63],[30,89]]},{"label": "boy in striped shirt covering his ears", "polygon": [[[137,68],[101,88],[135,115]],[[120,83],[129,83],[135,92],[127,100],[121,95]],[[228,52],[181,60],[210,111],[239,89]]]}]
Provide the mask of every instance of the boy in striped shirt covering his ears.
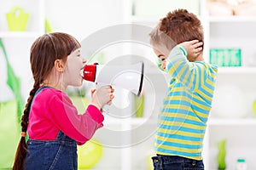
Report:
[{"label": "boy in striped shirt covering his ears", "polygon": [[203,59],[201,21],[186,9],[177,9],[166,14],[149,36],[160,69],[172,77],[158,117],[154,169],[204,169],[202,144],[217,66]]}]

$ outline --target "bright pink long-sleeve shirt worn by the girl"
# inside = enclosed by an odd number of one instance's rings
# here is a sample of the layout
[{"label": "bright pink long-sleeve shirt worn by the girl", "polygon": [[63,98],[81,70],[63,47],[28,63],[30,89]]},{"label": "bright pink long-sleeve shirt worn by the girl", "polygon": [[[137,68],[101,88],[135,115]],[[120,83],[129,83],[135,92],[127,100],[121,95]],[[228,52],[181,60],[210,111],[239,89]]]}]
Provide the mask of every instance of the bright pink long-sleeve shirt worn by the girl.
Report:
[{"label": "bright pink long-sleeve shirt worn by the girl", "polygon": [[67,94],[55,88],[44,88],[32,101],[27,133],[30,139],[55,140],[59,131],[84,144],[91,139],[104,116],[94,105],[78,114]]}]

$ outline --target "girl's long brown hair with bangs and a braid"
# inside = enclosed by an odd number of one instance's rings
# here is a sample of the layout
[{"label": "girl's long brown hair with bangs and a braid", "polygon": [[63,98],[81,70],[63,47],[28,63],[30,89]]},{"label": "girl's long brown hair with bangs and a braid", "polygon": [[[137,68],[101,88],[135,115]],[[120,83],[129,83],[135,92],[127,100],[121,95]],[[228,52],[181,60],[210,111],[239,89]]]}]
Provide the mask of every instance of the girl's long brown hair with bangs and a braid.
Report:
[{"label": "girl's long brown hair with bangs and a braid", "polygon": [[20,124],[23,135],[21,135],[20,143],[16,150],[13,170],[23,170],[24,168],[23,164],[26,157],[26,135],[24,134],[27,130],[29,113],[34,95],[38,88],[43,84],[44,79],[49,76],[54,66],[55,59],[63,59],[64,62],[66,62],[67,55],[80,47],[79,42],[74,37],[62,32],[44,34],[32,43],[30,63],[34,85],[29,93],[25,110],[21,117]]}]

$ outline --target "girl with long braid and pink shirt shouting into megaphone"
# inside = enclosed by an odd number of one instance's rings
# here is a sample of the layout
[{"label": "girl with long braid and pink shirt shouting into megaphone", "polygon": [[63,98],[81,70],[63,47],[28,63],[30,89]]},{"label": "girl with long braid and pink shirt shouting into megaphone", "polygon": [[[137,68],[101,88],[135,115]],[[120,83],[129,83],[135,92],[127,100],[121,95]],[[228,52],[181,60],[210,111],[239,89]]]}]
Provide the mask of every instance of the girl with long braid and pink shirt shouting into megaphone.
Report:
[{"label": "girl with long braid and pink shirt shouting into megaphone", "polygon": [[77,169],[77,144],[84,144],[103,126],[102,106],[111,105],[113,88],[91,91],[91,102],[83,115],[66,94],[67,86],[82,85],[79,71],[85,62],[79,48],[74,37],[61,32],[44,34],[33,42],[30,62],[34,85],[21,118],[14,170]]}]

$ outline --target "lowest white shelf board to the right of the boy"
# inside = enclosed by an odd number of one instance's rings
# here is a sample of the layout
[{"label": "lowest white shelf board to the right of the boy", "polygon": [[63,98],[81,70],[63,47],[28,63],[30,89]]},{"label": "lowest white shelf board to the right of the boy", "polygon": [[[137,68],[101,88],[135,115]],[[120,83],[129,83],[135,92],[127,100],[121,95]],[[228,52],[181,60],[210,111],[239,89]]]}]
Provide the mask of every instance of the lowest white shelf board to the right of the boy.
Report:
[{"label": "lowest white shelf board to the right of the boy", "polygon": [[210,118],[208,121],[209,126],[256,126],[256,118],[240,118],[240,119],[228,119],[228,118]]}]

